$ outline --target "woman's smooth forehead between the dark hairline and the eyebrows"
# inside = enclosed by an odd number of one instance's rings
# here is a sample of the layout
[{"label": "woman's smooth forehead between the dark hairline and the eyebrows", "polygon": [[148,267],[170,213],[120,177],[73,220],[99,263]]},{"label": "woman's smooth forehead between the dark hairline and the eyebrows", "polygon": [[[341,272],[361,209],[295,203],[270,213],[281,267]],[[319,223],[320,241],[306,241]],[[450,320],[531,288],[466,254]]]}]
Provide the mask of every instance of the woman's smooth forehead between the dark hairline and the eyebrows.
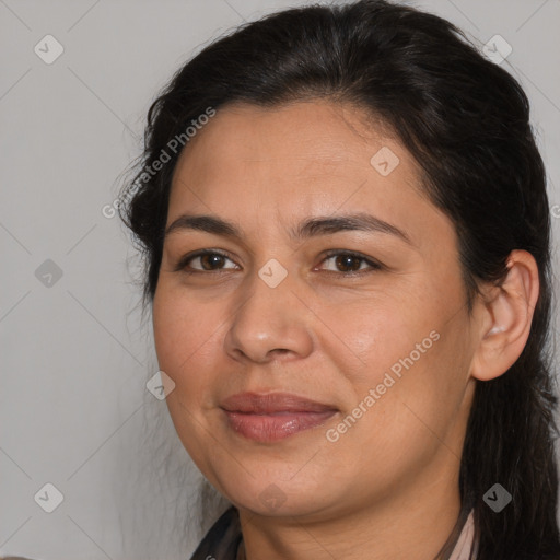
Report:
[{"label": "woman's smooth forehead between the dark hairline and the eyebrows", "polygon": [[450,233],[417,163],[363,109],[324,101],[221,108],[183,150],[167,223],[185,211],[212,213],[256,234],[270,218],[366,210],[402,230]]}]

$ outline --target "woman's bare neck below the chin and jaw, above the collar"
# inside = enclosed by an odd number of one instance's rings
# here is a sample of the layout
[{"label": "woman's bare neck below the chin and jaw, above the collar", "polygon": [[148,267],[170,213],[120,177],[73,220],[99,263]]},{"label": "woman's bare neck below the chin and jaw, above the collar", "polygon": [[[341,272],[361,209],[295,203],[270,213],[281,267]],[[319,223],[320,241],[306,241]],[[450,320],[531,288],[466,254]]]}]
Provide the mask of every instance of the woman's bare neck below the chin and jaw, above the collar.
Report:
[{"label": "woman's bare neck below the chin and jaw, above the collar", "polygon": [[[447,460],[454,460],[447,457]],[[445,460],[445,463],[447,463]],[[238,509],[246,560],[427,560],[440,557],[460,513],[458,468],[399,485],[389,498],[308,515],[266,516]],[[456,472],[455,472],[456,470]],[[369,502],[372,502],[370,499]]]}]

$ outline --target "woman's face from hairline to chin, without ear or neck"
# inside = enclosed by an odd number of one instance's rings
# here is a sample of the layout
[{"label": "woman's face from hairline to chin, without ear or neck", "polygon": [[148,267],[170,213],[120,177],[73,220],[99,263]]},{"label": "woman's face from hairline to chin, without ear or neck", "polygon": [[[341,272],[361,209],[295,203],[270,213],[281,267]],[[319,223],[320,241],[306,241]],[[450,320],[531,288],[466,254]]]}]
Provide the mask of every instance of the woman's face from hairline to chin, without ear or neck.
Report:
[{"label": "woman's face from hairline to chin, without ear or neck", "polygon": [[349,105],[220,109],[167,229],[158,359],[221,493],[320,516],[456,483],[475,337],[453,224],[398,141]]}]

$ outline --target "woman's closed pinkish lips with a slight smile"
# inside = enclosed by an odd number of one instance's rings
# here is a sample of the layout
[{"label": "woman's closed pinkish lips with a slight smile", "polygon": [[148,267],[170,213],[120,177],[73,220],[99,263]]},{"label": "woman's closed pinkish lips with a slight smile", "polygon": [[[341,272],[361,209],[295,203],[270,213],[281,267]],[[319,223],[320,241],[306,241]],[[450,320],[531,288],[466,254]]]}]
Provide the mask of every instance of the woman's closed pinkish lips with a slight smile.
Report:
[{"label": "woman's closed pinkish lips with a slight smile", "polygon": [[240,435],[270,443],[324,424],[338,409],[285,393],[244,393],[222,402],[228,425]]}]

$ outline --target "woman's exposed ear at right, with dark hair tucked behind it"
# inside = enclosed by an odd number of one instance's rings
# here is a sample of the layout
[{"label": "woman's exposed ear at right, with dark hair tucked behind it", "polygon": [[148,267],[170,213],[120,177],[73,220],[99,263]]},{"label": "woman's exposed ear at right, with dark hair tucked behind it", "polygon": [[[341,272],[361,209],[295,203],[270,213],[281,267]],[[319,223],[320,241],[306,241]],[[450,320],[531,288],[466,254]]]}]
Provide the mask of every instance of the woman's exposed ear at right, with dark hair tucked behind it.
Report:
[{"label": "woman's exposed ear at right, with dark hair tucked behind it", "polygon": [[530,332],[539,294],[538,266],[526,250],[513,250],[500,287],[482,290],[476,305],[478,348],[470,374],[489,381],[505,373],[520,358]]}]

